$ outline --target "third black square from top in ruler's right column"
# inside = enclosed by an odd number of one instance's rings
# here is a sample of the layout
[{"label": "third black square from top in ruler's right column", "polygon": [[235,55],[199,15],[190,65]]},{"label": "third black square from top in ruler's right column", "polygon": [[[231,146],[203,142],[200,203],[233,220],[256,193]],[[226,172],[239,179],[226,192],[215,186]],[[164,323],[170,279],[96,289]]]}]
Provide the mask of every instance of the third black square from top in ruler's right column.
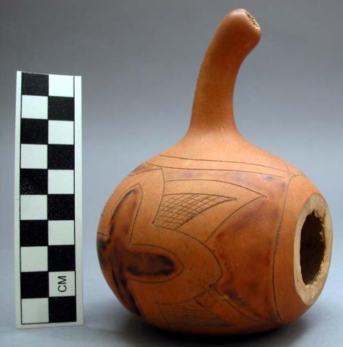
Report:
[{"label": "third black square from top in ruler's right column", "polygon": [[72,220],[75,216],[73,194],[47,195],[47,218],[49,220]]}]

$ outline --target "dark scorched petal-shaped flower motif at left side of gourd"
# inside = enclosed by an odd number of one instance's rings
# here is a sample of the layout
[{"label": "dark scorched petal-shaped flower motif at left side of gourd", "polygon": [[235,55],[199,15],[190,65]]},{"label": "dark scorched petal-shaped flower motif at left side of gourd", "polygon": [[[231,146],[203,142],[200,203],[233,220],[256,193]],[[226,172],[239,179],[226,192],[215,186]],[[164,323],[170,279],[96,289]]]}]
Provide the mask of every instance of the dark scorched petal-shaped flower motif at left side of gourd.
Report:
[{"label": "dark scorched petal-shaped flower motif at left side of gourd", "polygon": [[129,278],[146,280],[169,277],[176,271],[176,265],[167,255],[159,252],[142,251],[141,247],[130,246],[134,220],[141,204],[141,187],[137,184],[128,190],[119,203],[109,224],[109,237],[97,239],[99,262],[104,269],[111,269],[113,283],[119,298],[126,308],[137,315],[143,315],[130,289]]}]

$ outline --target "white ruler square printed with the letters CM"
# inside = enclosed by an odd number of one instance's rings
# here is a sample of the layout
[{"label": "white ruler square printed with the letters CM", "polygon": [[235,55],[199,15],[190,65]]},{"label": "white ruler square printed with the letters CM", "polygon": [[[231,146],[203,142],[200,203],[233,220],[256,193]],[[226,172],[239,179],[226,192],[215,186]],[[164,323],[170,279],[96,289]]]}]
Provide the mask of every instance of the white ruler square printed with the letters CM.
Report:
[{"label": "white ruler square printed with the letters CM", "polygon": [[49,296],[75,296],[75,272],[49,272]]}]

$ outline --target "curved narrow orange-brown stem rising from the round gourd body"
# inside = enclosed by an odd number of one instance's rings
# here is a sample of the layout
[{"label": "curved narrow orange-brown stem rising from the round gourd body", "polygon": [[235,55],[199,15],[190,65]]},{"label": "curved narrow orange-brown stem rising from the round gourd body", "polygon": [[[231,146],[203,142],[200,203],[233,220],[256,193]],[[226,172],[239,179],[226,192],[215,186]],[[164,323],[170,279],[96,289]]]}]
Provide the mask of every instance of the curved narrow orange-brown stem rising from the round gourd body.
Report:
[{"label": "curved narrow orange-brown stem rising from the round gourd body", "polygon": [[257,21],[246,10],[233,10],[224,17],[202,61],[188,134],[193,130],[237,132],[233,89],[241,63],[260,37]]}]

